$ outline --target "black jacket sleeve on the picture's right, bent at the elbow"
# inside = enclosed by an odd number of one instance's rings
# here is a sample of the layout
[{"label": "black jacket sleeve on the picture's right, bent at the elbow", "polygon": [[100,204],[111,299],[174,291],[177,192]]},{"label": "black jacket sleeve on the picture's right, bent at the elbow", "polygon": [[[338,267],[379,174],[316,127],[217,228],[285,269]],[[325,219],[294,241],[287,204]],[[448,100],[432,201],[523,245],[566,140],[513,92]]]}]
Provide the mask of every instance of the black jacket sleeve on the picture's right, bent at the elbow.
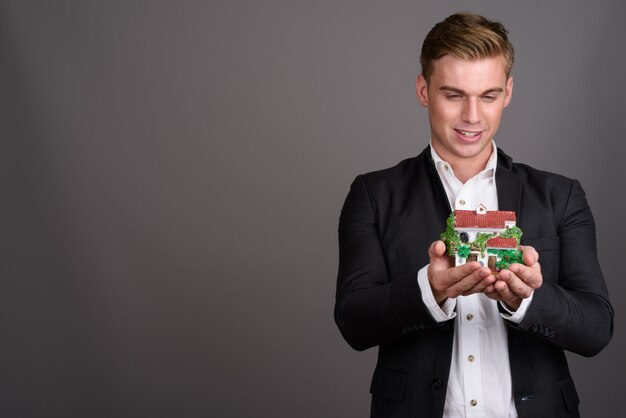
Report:
[{"label": "black jacket sleeve on the picture's right, bent at the elbow", "polygon": [[557,234],[556,248],[545,252],[545,260],[540,255],[544,281],[519,329],[593,356],[611,339],[613,308],[597,258],[593,216],[578,181],[571,183]]}]

